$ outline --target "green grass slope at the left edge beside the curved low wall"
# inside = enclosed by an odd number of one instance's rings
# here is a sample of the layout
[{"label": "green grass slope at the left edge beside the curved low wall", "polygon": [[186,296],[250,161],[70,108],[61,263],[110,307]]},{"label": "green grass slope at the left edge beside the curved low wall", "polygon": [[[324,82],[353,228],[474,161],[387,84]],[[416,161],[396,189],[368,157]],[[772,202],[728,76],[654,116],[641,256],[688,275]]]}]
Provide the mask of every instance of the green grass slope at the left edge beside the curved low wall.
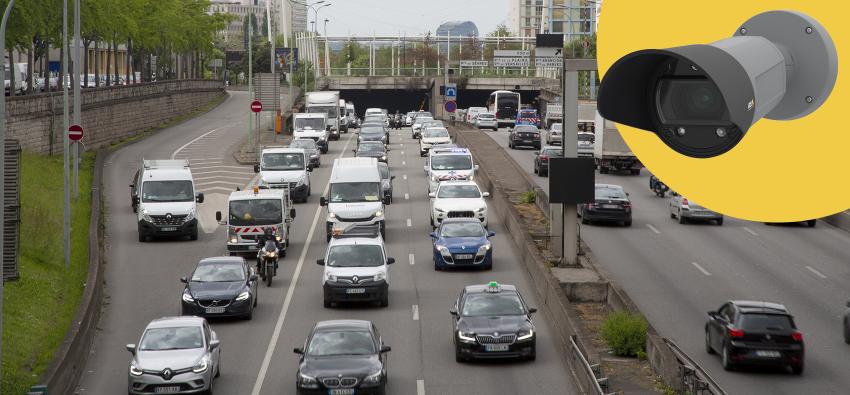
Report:
[{"label": "green grass slope at the left edge beside the curved low wall", "polygon": [[3,299],[3,392],[25,394],[53,359],[82,297],[89,259],[94,153],[80,163],[71,199],[71,266],[64,265],[61,156],[21,155],[21,278]]}]

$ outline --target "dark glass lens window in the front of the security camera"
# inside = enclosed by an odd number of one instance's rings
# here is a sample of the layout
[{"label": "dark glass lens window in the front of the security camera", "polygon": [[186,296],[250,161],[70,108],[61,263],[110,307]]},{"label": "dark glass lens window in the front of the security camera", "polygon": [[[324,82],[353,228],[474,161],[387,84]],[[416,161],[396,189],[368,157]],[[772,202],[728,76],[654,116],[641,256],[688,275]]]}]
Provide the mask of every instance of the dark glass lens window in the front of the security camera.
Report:
[{"label": "dark glass lens window in the front of the security camera", "polygon": [[658,84],[659,113],[665,123],[717,121],[725,104],[717,86],[707,80],[663,79]]}]

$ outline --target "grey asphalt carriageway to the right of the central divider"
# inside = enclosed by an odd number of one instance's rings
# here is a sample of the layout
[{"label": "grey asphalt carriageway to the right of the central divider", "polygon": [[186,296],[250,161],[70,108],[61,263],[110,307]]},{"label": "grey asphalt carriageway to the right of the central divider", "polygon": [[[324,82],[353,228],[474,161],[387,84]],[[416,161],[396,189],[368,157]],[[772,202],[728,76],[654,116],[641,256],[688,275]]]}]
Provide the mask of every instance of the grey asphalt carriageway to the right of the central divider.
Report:
[{"label": "grey asphalt carriageway to the right of the central divider", "polygon": [[[533,149],[507,148],[507,129],[487,133],[548,190],[549,178],[533,174]],[[649,190],[640,176],[596,175],[597,183],[630,193],[629,228],[581,225],[581,237],[599,263],[638,304],[662,336],[673,339],[730,394],[841,394],[850,388],[850,364],[841,319],[848,300],[850,234],[826,222],[768,226],[726,218],[723,226],[679,224],[669,198]],[[741,199],[769,199],[741,196]],[[706,312],[730,299],[785,304],[806,343],[802,377],[776,370],[726,372],[703,346]]]}]

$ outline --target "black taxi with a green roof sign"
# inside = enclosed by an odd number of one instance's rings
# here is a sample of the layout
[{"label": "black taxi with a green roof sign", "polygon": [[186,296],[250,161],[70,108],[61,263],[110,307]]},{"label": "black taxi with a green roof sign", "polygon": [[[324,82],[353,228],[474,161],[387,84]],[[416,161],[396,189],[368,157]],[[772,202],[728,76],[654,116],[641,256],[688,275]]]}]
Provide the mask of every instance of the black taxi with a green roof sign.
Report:
[{"label": "black taxi with a green roof sign", "polygon": [[455,360],[537,356],[537,335],[528,307],[513,285],[468,285],[450,312],[454,317]]}]

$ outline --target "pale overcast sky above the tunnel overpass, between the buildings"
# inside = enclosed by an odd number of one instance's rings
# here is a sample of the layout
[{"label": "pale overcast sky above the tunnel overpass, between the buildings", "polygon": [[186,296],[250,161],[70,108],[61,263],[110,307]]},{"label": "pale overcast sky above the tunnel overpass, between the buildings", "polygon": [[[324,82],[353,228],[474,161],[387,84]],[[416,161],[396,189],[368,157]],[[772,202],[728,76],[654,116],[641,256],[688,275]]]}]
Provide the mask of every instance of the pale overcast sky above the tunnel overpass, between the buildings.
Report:
[{"label": "pale overcast sky above the tunnel overpass, between the buildings", "polygon": [[[434,32],[441,23],[470,20],[486,35],[496,25],[507,23],[509,0],[327,0],[331,6],[319,10],[319,32],[328,22],[328,35],[356,36],[419,35]],[[314,14],[309,10],[309,19]]]}]

